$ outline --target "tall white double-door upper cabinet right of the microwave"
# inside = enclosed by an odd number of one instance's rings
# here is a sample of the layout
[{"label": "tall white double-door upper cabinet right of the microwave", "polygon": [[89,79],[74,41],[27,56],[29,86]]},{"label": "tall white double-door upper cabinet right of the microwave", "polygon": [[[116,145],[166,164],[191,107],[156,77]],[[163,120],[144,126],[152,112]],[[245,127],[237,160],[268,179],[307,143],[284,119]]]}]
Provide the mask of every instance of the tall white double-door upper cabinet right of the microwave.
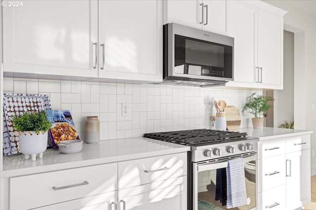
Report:
[{"label": "tall white double-door upper cabinet right of the microwave", "polygon": [[235,78],[226,86],[283,89],[285,13],[262,1],[228,1],[228,31],[235,38]]}]

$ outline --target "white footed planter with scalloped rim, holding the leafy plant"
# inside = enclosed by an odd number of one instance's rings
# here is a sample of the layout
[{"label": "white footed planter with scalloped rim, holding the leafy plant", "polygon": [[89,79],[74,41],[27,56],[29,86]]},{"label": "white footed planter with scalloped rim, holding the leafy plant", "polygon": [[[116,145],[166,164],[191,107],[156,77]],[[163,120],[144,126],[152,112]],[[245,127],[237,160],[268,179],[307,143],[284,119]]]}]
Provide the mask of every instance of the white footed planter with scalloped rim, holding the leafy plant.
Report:
[{"label": "white footed planter with scalloped rim, holding the leafy plant", "polygon": [[19,147],[25,159],[29,159],[31,155],[32,161],[35,161],[36,154],[42,158],[47,148],[47,132],[36,134],[34,131],[22,131],[19,134]]}]

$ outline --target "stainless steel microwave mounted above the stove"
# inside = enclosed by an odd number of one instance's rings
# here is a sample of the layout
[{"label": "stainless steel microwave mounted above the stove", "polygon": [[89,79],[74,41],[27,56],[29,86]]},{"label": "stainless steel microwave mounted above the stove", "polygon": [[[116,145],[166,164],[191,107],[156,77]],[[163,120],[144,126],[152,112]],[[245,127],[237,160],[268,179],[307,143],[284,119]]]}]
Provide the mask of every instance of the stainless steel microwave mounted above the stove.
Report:
[{"label": "stainless steel microwave mounted above the stove", "polygon": [[163,26],[163,81],[223,86],[234,80],[234,38],[175,23]]}]

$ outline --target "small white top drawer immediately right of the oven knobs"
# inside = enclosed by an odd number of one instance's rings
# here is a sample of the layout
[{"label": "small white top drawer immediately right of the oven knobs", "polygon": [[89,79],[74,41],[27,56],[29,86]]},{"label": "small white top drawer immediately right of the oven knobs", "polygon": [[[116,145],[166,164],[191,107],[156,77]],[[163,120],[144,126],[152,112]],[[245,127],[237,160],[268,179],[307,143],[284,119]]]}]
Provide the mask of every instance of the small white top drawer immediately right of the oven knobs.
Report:
[{"label": "small white top drawer immediately right of the oven knobs", "polygon": [[285,139],[258,142],[258,159],[285,154]]}]

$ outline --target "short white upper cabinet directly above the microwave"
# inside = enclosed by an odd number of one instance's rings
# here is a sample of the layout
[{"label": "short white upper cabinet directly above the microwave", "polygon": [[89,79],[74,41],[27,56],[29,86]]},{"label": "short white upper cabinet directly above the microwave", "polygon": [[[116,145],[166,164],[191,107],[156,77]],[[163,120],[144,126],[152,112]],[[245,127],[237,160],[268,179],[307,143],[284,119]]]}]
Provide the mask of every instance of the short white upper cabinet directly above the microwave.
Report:
[{"label": "short white upper cabinet directly above the microwave", "polygon": [[164,24],[226,32],[226,0],[165,0]]}]

